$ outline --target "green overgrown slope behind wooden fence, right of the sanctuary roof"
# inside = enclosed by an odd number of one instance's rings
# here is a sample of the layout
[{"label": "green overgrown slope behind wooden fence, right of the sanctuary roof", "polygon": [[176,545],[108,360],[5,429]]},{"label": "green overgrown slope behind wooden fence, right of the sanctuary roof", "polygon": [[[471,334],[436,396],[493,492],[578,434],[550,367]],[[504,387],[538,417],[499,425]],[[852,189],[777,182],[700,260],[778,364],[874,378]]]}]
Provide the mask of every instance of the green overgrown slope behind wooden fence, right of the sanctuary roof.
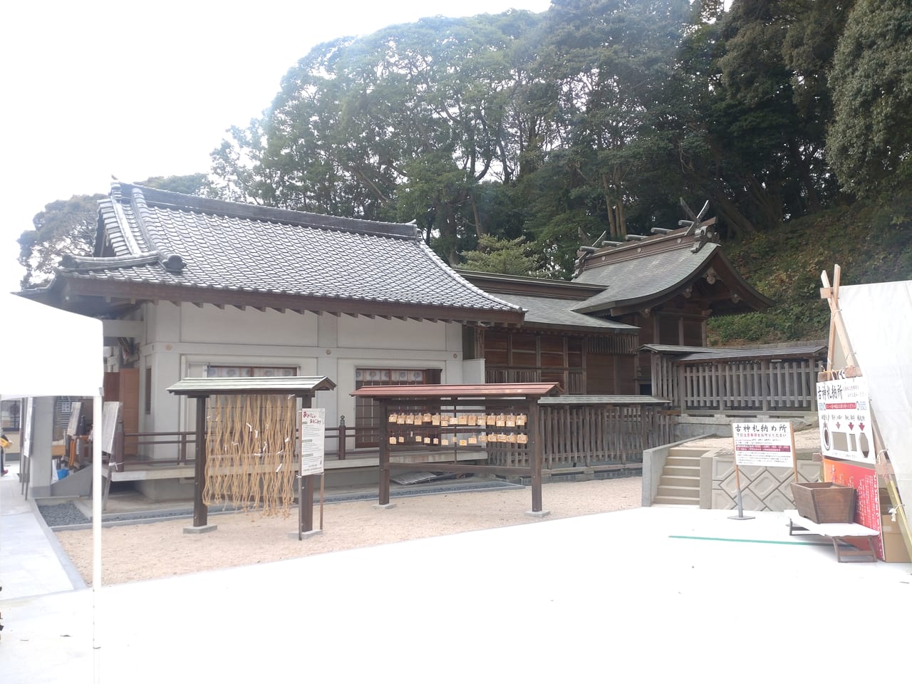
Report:
[{"label": "green overgrown slope behind wooden fence, right of the sanctuary roof", "polygon": [[741,275],[776,306],[711,319],[710,345],[824,339],[830,312],[820,298],[821,272],[832,281],[839,264],[842,285],[912,279],[912,202],[858,202],[723,246]]}]

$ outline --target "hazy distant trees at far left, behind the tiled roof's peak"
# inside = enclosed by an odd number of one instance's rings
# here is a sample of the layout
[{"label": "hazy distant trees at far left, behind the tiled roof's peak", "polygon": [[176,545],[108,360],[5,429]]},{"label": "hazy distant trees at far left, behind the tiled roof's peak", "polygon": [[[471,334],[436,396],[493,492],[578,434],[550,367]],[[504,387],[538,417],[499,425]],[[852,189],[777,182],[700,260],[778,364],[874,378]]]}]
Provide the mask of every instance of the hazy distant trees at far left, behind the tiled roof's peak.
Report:
[{"label": "hazy distant trees at far left, behind the tiled roof's peak", "polygon": [[[150,188],[212,196],[212,186],[204,173],[186,176],[154,176],[136,183]],[[73,195],[45,205],[32,219],[32,230],[19,235],[19,264],[26,268],[23,288],[47,285],[53,278],[63,254],[88,256],[95,248],[98,229],[98,201],[105,195]]]}]

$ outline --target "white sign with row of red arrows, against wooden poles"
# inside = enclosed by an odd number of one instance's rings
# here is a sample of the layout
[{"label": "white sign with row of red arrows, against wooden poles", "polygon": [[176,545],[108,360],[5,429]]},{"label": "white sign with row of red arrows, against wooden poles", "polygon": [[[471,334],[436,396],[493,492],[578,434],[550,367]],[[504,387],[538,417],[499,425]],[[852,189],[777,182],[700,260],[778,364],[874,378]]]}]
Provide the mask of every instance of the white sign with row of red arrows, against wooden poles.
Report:
[{"label": "white sign with row of red arrows, against wooden poles", "polygon": [[818,382],[817,420],[824,456],[865,463],[875,461],[865,378]]}]

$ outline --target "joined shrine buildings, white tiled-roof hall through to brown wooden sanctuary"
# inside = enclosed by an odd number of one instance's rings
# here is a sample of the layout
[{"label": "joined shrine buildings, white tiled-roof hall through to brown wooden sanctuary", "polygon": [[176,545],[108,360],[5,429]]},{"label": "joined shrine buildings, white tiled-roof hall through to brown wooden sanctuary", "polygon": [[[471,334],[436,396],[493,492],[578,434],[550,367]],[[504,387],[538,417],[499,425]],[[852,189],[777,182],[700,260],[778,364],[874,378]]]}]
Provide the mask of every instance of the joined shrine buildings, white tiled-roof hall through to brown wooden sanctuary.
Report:
[{"label": "joined shrine buildings, white tiled-roof hall through to brown wooden sanctuary", "polygon": [[[700,347],[710,316],[772,304],[705,225],[584,247],[563,282],[457,272],[411,224],[121,182],[99,202],[95,253],[22,294],[103,320],[105,399],[122,402],[127,432],[192,430],[192,403],[167,391],[182,378],[326,376],[337,389],[316,406],[349,427],[376,423],[373,403],[351,396],[368,385],[648,395],[643,345]],[[348,447],[374,441],[363,432]]]}]

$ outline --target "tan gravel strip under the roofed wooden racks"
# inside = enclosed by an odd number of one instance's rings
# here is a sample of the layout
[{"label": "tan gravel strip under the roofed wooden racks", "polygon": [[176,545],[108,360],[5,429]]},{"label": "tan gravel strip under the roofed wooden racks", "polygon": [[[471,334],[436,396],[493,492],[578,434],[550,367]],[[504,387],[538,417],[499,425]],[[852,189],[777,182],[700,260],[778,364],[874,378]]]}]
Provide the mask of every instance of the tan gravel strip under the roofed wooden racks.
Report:
[{"label": "tan gravel strip under the roofed wooden racks", "polygon": [[[590,482],[549,482],[542,487],[544,518],[526,514],[528,487],[443,492],[401,497],[379,509],[376,496],[324,506],[322,534],[297,540],[297,512],[264,517],[256,512],[220,513],[208,534],[184,534],[187,520],[105,527],[101,532],[102,581],[119,584],[459,534],[517,524],[542,524],[558,518],[638,508],[641,478]],[[314,525],[319,526],[315,507]],[[92,531],[58,530],[57,539],[87,584],[92,575]]]}]

